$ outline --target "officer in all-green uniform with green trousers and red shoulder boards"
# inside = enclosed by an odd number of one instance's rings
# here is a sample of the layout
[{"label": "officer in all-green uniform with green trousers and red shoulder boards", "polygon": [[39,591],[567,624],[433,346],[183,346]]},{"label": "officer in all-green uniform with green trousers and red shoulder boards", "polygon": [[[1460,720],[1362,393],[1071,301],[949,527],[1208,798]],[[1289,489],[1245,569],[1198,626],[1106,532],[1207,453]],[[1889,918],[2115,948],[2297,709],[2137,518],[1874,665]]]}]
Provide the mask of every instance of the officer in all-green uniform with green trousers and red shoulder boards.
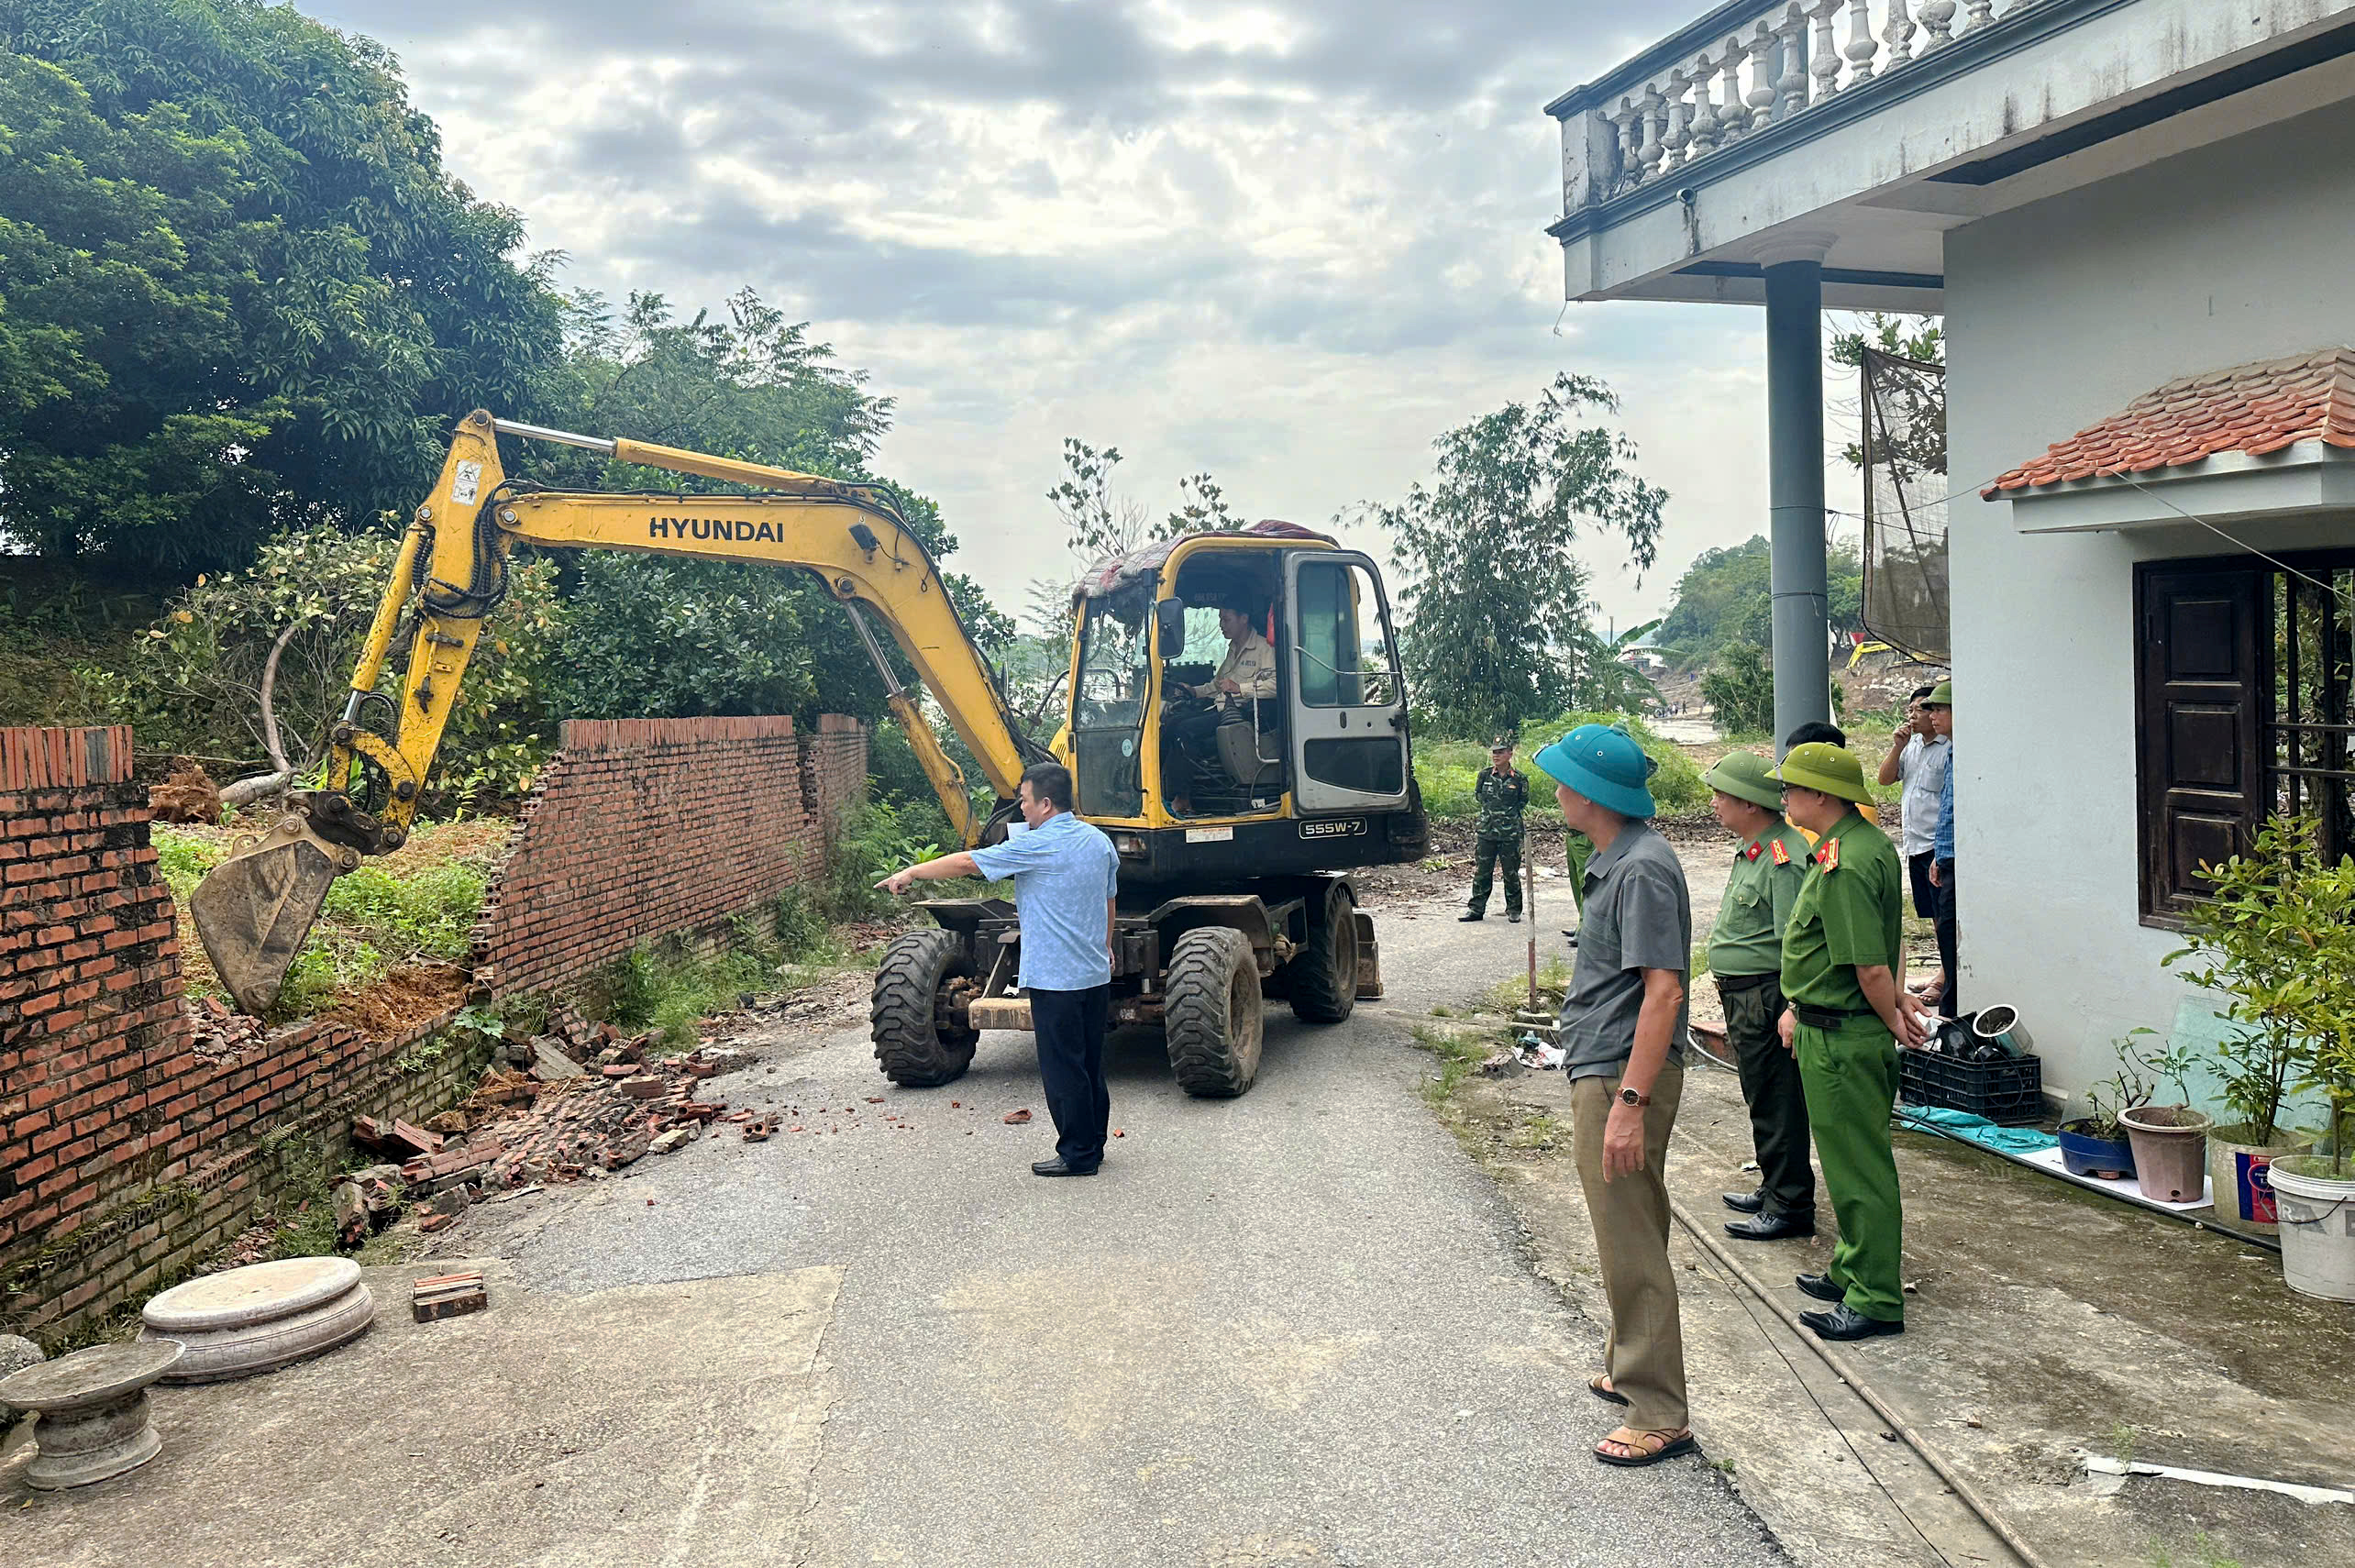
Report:
[{"label": "officer in all-green uniform with green trousers and red shoulder boards", "polygon": [[1889,833],[1865,822],[1865,770],[1842,746],[1792,746],[1769,775],[1783,815],[1816,833],[1806,878],[1783,930],[1783,1043],[1799,1059],[1806,1118],[1839,1245],[1799,1290],[1832,1302],[1799,1321],[1823,1340],[1905,1333],[1903,1215],[1889,1111],[1898,1097],[1898,1043],[1929,1029],[1898,984],[1905,965],[1905,866]]}]

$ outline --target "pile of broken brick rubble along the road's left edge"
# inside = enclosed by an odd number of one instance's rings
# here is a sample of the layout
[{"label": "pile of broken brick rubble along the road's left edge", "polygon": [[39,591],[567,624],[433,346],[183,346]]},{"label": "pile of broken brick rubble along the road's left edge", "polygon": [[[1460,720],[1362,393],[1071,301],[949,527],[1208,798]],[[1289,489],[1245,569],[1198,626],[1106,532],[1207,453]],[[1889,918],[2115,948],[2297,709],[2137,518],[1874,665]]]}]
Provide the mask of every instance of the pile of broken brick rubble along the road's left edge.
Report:
[{"label": "pile of broken brick rubble along the road's left edge", "polygon": [[464,1104],[417,1128],[360,1116],[351,1140],[389,1161],[346,1177],[337,1220],[346,1238],[382,1224],[403,1201],[426,1205],[422,1227],[452,1224],[478,1196],[544,1182],[596,1180],[648,1154],[676,1154],[714,1123],[742,1123],[758,1142],[770,1125],[725,1099],[704,1099],[704,1078],[751,1064],[751,1055],[702,1048],[648,1057],[655,1036],[622,1041],[612,1024],[565,1024],[520,1045],[483,1074]]}]

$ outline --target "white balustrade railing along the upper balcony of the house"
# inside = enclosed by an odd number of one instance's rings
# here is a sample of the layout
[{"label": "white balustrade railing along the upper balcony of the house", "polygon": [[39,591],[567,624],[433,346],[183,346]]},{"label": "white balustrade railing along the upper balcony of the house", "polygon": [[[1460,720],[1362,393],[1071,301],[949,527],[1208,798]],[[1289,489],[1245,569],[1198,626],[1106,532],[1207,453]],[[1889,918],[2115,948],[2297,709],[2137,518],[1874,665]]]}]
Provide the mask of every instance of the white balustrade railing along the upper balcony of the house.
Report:
[{"label": "white balustrade railing along the upper balcony of the house", "polygon": [[1903,75],[1938,49],[2046,2],[1722,5],[1665,45],[1552,106],[1566,129],[1568,205],[1606,202],[1667,179],[1844,92]]}]

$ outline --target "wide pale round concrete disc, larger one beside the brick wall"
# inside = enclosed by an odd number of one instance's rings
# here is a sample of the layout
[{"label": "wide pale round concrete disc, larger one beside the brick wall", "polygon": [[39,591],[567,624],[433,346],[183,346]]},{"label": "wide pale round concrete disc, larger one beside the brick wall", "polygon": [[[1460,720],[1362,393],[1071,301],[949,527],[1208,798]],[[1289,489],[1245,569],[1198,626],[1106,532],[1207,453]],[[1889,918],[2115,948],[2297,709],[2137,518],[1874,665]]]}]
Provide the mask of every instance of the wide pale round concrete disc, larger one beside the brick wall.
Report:
[{"label": "wide pale round concrete disc, larger one beside the brick wall", "polygon": [[367,1333],[374,1297],[349,1257],[283,1257],[165,1290],[139,1314],[141,1340],[188,1354],[165,1382],[252,1377]]}]

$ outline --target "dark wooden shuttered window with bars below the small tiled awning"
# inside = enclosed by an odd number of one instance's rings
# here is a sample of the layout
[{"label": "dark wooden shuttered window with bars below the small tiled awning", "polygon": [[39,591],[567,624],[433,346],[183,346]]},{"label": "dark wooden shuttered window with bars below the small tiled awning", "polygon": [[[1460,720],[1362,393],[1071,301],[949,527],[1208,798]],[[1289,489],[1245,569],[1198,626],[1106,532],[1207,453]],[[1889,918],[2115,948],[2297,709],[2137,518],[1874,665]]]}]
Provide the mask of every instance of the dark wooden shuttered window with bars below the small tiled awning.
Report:
[{"label": "dark wooden shuttered window with bars below the small tiled awning", "polygon": [[2275,812],[2355,855],[2355,551],[2145,563],[2136,619],[2143,921],[2178,923]]}]

